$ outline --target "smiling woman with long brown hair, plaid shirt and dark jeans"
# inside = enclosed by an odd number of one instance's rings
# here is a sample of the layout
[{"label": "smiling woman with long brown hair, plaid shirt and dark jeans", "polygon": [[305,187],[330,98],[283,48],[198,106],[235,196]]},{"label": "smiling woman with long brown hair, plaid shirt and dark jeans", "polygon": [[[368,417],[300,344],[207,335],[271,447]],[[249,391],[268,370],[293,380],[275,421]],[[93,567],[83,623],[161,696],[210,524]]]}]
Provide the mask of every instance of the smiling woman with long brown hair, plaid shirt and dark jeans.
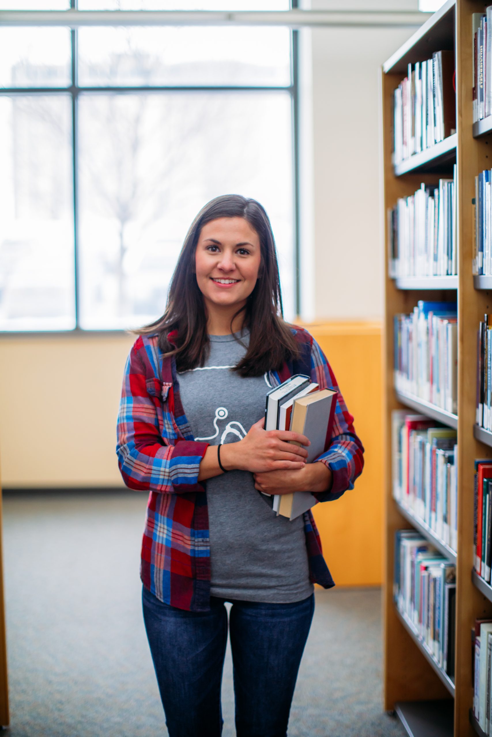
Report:
[{"label": "smiling woman with long brown hair, plaid shirt and dark jeans", "polygon": [[311,335],[281,315],[265,210],[215,198],[190,227],[164,315],[126,364],[117,454],[127,486],[150,490],[142,601],[170,737],[221,734],[224,601],[238,737],[285,737],[313,583],[334,585],[311,511],[277,517],[267,495],[338,499],[364,449],[342,394],[312,464],[307,438],[263,429],[266,393],[290,375],[336,388]]}]

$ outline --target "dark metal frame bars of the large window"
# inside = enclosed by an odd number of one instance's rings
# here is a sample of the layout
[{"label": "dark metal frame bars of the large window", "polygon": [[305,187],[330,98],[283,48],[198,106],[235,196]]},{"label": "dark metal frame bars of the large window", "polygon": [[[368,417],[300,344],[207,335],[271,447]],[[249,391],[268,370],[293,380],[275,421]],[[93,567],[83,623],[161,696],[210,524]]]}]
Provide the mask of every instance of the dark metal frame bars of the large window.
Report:
[{"label": "dark metal frame bars of the large window", "polygon": [[[299,7],[299,0],[291,0],[291,8]],[[68,10],[68,9],[67,9]],[[70,0],[70,10],[77,10],[77,0]],[[121,25],[121,24],[118,24]],[[79,259],[79,213],[78,213],[78,177],[77,177],[77,105],[80,94],[91,92],[115,92],[118,94],[145,94],[148,91],[246,91],[246,92],[288,92],[291,97],[291,129],[292,129],[292,172],[293,172],[293,245],[294,258],[292,269],[294,272],[294,312],[300,314],[300,247],[299,247],[299,31],[291,29],[291,83],[281,85],[114,85],[114,86],[83,86],[78,85],[78,55],[77,29],[70,30],[71,41],[71,84],[68,87],[0,87],[1,97],[13,97],[25,94],[69,94],[72,106],[72,189],[73,189],[73,228],[74,228],[74,299],[75,299],[75,326],[72,329],[61,330],[0,330],[0,336],[39,336],[39,335],[122,335],[128,332],[125,328],[85,329],[80,326],[80,259]]]}]

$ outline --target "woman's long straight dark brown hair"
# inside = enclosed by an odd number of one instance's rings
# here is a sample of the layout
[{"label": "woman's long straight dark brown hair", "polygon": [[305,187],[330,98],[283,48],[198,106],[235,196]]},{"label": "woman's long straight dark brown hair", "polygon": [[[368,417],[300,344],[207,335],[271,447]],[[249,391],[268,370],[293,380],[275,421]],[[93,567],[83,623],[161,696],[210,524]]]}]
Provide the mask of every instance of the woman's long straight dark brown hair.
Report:
[{"label": "woman's long straight dark brown hair", "polygon": [[[184,239],[164,315],[135,332],[158,334],[159,348],[167,356],[176,356],[178,371],[204,366],[209,338],[204,298],[194,270],[195,251],[201,228],[218,217],[243,217],[260,238],[260,276],[246,306],[236,312],[238,315],[245,311],[249,347],[235,371],[241,376],[261,376],[265,371],[277,371],[285,361],[297,358],[299,349],[290,326],[283,320],[277,251],[270,220],[260,203],[240,195],[216,197],[201,209]],[[231,330],[236,315],[231,320]]]}]

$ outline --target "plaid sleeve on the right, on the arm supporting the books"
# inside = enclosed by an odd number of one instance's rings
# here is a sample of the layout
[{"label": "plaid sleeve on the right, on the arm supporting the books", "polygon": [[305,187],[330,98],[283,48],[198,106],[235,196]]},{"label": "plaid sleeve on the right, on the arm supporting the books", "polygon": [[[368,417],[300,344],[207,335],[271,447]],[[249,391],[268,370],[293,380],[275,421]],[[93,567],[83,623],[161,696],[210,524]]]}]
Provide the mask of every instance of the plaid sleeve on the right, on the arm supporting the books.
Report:
[{"label": "plaid sleeve on the right, on the arm supporting the books", "polygon": [[330,364],[314,339],[311,344],[311,381],[318,383],[321,389],[337,392],[331,442],[325,453],[316,458],[316,463],[321,461],[333,474],[330,491],[313,495],[324,502],[339,499],[347,489],[353,489],[353,482],[364,467],[364,447],[356,435],[353,416],[347,410]]}]

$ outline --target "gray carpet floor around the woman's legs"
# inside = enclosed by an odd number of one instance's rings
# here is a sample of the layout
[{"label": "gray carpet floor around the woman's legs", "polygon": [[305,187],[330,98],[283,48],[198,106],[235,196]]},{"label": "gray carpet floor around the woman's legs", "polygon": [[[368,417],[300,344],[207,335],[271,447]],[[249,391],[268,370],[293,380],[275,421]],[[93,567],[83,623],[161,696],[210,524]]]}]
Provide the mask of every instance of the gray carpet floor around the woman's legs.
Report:
[{"label": "gray carpet floor around the woman's legs", "polygon": [[[141,612],[146,495],[5,494],[12,737],[165,737]],[[235,735],[226,657],[224,737]],[[289,737],[403,737],[381,705],[381,592],[316,593]]]}]

